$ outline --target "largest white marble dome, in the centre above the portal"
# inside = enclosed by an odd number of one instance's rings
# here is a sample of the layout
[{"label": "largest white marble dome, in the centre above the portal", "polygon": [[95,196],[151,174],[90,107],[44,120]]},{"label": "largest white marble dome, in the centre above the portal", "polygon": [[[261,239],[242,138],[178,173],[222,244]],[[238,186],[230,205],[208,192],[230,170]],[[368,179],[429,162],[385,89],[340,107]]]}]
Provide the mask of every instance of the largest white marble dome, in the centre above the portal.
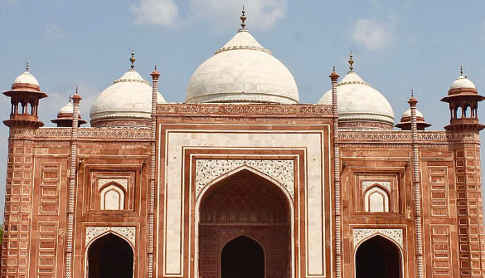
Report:
[{"label": "largest white marble dome, in the centre above the portal", "polygon": [[187,103],[298,103],[293,75],[254,39],[238,33],[202,63],[187,86]]}]

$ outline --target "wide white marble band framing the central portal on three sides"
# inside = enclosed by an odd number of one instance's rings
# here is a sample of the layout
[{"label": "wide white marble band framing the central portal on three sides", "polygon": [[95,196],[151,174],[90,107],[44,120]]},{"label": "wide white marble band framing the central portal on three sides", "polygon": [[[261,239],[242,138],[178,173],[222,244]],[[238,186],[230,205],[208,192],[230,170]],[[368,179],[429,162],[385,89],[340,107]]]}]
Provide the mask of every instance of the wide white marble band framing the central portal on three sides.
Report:
[{"label": "wide white marble band framing the central portal on three sides", "polygon": [[[319,127],[321,128],[321,127]],[[290,131],[279,133],[271,131],[211,131],[175,132],[170,131],[166,138],[166,234],[164,242],[164,275],[182,275],[184,258],[182,196],[183,185],[181,169],[184,158],[182,147],[270,147],[306,148],[306,272],[308,276],[325,275],[325,219],[323,213],[323,189],[328,180],[322,177],[322,131]],[[328,144],[328,142],[325,142]],[[329,147],[329,146],[328,146]],[[302,162],[303,163],[303,162]],[[188,172],[188,169],[185,170]],[[304,175],[301,173],[300,175]]]}]

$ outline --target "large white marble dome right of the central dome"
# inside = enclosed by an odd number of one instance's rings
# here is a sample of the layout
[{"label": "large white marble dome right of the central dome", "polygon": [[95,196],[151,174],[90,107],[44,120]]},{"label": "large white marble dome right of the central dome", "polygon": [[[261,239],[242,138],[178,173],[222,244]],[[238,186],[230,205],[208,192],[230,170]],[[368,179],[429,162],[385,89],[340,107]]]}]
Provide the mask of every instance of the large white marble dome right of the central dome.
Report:
[{"label": "large white marble dome right of the central dome", "polygon": [[[340,122],[394,124],[394,111],[385,96],[354,71],[337,84],[337,95]],[[332,104],[332,91],[327,91],[318,104]]]}]

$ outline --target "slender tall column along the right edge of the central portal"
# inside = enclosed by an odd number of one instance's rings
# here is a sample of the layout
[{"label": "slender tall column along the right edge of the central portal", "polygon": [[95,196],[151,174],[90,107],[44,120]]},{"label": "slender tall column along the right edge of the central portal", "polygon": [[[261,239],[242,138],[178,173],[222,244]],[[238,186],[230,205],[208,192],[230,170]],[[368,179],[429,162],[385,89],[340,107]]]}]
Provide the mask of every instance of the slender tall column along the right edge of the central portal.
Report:
[{"label": "slender tall column along the right edge of the central portal", "polygon": [[333,111],[333,190],[335,203],[335,277],[342,277],[342,228],[340,214],[340,154],[339,154],[339,111],[337,100],[337,80],[339,75],[333,72],[329,75],[332,80],[332,111]]}]

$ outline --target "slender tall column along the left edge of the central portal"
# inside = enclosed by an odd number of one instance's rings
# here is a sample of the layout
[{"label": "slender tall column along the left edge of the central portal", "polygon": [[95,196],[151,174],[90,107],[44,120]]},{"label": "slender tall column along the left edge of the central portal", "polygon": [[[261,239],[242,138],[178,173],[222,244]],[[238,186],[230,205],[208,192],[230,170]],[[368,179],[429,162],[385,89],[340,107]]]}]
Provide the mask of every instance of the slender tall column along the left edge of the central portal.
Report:
[{"label": "slender tall column along the left edge of the central portal", "polygon": [[152,130],[150,140],[150,203],[148,212],[148,278],[153,277],[153,234],[155,219],[155,156],[156,156],[156,139],[157,139],[157,91],[158,78],[160,73],[152,71]]}]

